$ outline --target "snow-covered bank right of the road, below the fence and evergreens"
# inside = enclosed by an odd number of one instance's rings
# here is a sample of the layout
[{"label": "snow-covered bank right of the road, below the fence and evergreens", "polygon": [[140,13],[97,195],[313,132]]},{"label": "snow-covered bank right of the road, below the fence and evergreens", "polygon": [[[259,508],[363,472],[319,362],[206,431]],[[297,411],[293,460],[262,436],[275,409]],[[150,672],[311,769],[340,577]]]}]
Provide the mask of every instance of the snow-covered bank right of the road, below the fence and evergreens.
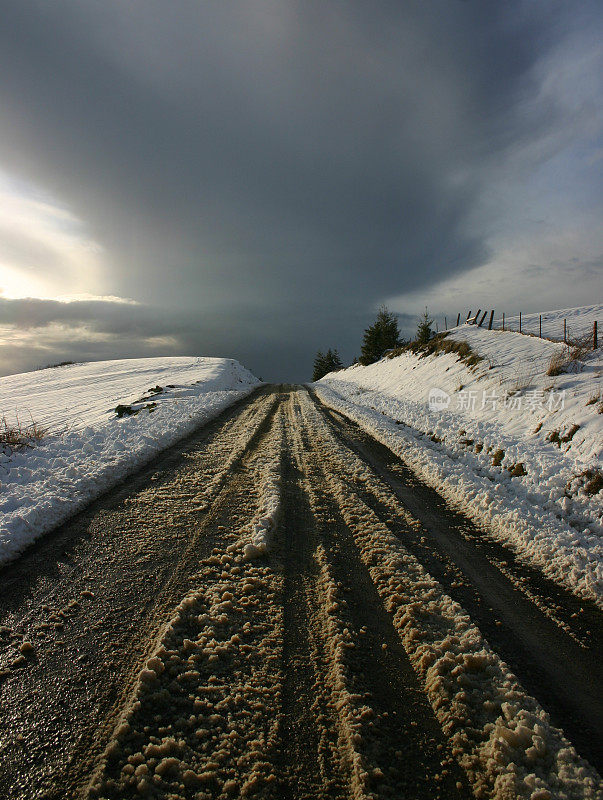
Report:
[{"label": "snow-covered bank right of the road, below the fence and evergreens", "polygon": [[[596,312],[556,314],[580,329]],[[318,394],[549,577],[602,602],[601,349],[572,361],[563,344],[514,332],[464,325],[449,337],[482,360],[406,352],[331,373]],[[554,358],[563,371],[549,376]]]}]

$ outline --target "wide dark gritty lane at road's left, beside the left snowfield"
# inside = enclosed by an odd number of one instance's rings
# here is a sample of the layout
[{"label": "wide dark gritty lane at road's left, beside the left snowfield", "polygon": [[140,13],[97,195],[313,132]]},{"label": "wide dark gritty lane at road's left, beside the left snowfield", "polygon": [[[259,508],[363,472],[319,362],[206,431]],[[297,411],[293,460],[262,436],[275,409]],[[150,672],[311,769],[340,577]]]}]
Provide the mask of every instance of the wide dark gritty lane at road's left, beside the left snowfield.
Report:
[{"label": "wide dark gritty lane at road's left, beside the left snowfield", "polygon": [[[64,526],[46,552],[73,543],[65,569],[59,563],[40,577],[42,546],[29,564],[27,557],[19,563],[20,576],[0,600],[0,789],[7,796],[77,791],[200,558],[224,540],[228,525],[252,513],[245,460],[258,450],[279,402],[273,392],[260,394],[240,417],[227,414],[209,435],[202,431],[144,470],[133,488],[111,493]],[[202,512],[199,489],[212,467],[213,476],[224,472],[221,456],[231,460],[230,481],[216,484]],[[33,645],[26,655],[18,649],[24,641]],[[40,706],[35,716],[32,700]]]}]

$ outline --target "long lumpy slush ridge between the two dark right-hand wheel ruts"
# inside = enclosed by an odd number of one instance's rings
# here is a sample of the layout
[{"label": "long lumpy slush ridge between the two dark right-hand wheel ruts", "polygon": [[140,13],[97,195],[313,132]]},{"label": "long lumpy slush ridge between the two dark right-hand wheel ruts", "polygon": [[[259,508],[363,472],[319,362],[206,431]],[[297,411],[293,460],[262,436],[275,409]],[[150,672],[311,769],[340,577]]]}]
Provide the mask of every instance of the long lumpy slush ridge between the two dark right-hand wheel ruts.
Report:
[{"label": "long lumpy slush ridge between the two dark right-hand wheel ruts", "polygon": [[464,609],[350,491],[350,482],[370,483],[366,465],[336,440],[306,393],[300,404],[330,490],[473,791],[598,797],[596,770],[551,725]]}]

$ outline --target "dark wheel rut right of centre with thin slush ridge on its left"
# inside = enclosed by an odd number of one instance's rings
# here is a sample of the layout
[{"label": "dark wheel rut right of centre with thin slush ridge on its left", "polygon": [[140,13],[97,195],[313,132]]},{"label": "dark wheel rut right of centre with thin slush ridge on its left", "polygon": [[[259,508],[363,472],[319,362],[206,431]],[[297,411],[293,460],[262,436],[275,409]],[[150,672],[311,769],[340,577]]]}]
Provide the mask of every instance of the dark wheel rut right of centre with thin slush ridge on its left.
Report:
[{"label": "dark wheel rut right of centre with thin slush ridge on its left", "polygon": [[[310,624],[313,636],[323,640],[322,685],[338,710],[329,724],[321,715],[317,727],[324,738],[333,726],[338,729],[335,758],[347,783],[345,796],[386,798],[411,791],[417,798],[468,797],[337,503],[320,488],[326,476],[294,395],[288,412],[298,476],[292,508],[305,534],[306,558],[312,551]],[[310,700],[305,694],[302,705]]]}]

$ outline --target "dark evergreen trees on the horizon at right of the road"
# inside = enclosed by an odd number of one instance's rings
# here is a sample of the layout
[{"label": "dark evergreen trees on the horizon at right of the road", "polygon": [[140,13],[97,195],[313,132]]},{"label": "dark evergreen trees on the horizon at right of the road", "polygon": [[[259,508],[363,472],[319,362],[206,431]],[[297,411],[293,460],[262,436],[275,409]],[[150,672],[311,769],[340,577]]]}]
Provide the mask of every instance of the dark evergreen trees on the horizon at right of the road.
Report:
[{"label": "dark evergreen trees on the horizon at right of the road", "polygon": [[[423,346],[431,339],[433,336],[432,325],[433,320],[429,318],[429,313],[425,309],[425,313],[419,320],[417,335],[414,340],[417,345]],[[386,353],[391,350],[397,350],[407,344],[409,344],[408,339],[403,339],[400,335],[396,315],[387,306],[381,306],[373,324],[369,325],[364,331],[360,347],[360,358],[355,358],[353,363],[360,362],[363,366],[374,364],[383,358]],[[318,381],[328,375],[329,372],[336,372],[338,369],[343,369],[343,363],[337,349],[329,348],[326,352],[319,350],[314,358],[312,380]]]}]

